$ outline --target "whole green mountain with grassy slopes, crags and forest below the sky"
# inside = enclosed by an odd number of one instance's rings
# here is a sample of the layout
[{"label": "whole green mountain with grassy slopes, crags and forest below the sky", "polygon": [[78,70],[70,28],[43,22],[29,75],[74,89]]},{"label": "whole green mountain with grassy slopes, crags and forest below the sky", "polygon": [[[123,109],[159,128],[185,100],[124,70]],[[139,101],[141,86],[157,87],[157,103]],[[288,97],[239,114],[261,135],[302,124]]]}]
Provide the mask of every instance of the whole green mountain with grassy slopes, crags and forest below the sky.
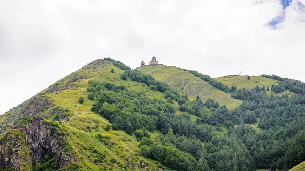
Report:
[{"label": "whole green mountain with grassy slopes, crags and forest below the sky", "polygon": [[0,170],[288,170],[305,84],[247,77],[95,60],[0,115]]}]

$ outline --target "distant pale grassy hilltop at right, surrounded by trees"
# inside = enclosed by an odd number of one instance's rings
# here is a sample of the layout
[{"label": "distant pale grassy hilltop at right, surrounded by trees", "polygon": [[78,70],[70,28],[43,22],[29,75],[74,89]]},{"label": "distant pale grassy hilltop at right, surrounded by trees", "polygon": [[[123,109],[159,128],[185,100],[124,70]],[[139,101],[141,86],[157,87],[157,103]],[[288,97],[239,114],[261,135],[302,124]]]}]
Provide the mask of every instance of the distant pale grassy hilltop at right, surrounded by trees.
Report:
[{"label": "distant pale grassy hilltop at right, surrounded by trees", "polygon": [[[276,80],[272,80],[270,78],[265,78],[261,76],[250,76],[250,80],[247,79],[248,76],[236,76],[236,75],[228,75],[224,77],[214,78],[215,80],[232,87],[232,85],[237,86],[237,88],[247,88],[251,89],[253,87],[259,86],[263,87],[271,87],[272,84],[277,84]],[[266,91],[267,95],[271,95],[271,91]],[[289,96],[293,95],[294,93],[290,91],[285,91],[279,94],[273,93],[274,95],[282,96],[282,94],[288,94]]]}]

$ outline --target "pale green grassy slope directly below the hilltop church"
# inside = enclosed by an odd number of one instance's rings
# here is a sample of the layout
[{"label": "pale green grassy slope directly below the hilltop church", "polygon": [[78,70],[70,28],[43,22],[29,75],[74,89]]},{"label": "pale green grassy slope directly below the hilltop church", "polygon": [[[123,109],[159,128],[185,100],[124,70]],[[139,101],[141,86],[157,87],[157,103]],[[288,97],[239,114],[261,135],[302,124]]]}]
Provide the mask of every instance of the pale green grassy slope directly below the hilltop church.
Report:
[{"label": "pale green grassy slope directly below the hilltop church", "polygon": [[202,100],[212,98],[219,102],[220,105],[226,105],[229,109],[235,108],[242,103],[240,100],[231,98],[231,94],[225,93],[193,74],[173,66],[148,66],[139,70],[153,75],[156,80],[167,82],[181,94],[189,92],[191,100],[195,99],[197,95]]}]

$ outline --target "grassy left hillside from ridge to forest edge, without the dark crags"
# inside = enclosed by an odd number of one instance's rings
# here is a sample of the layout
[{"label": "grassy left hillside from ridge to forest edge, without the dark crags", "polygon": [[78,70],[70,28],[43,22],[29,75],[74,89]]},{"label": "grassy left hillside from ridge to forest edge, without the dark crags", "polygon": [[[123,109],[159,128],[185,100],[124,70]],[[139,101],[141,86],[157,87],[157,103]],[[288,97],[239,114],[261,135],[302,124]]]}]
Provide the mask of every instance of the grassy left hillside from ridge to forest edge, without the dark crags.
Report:
[{"label": "grassy left hillside from ridge to forest edge, without the dark crags", "polygon": [[[111,73],[111,69],[114,69],[115,72]],[[164,169],[165,167],[159,162],[139,156],[139,142],[133,136],[123,131],[105,131],[105,127],[109,124],[108,120],[90,110],[94,101],[87,99],[86,88],[89,80],[124,85],[130,90],[145,92],[149,98],[164,99],[164,95],[159,91],[151,91],[147,86],[131,80],[121,80],[120,74],[123,72],[111,62],[94,61],[58,80],[49,88],[4,115],[0,115],[0,132],[19,129],[31,122],[31,116],[24,114],[24,111],[29,108],[35,111],[36,106],[33,106],[35,104],[39,108],[37,112],[42,117],[42,123],[56,125],[57,133],[66,134],[63,143],[67,145],[63,148],[74,159],[70,159],[72,162],[64,165],[62,170],[101,170],[101,168],[122,170],[136,167],[146,167],[146,169],[152,170]],[[83,104],[78,102],[80,96],[85,99]],[[19,120],[23,122],[23,125]],[[37,163],[36,167],[38,170],[45,170],[51,166],[50,163],[51,160],[41,161]]]}]

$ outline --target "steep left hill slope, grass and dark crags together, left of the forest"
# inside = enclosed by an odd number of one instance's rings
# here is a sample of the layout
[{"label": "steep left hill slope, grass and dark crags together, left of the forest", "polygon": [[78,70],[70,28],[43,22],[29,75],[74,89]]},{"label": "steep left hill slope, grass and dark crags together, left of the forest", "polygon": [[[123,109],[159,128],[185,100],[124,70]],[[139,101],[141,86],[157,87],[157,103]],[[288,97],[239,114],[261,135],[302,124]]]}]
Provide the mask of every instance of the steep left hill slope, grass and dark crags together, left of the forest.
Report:
[{"label": "steep left hill slope, grass and dark crags together, left of the forest", "polygon": [[[111,69],[115,72],[110,72]],[[0,165],[0,169],[19,168],[20,164],[27,163],[22,167],[24,170],[164,170],[159,162],[138,155],[139,143],[133,136],[122,131],[105,131],[108,120],[90,110],[94,101],[86,98],[89,80],[124,85],[136,92],[144,91],[149,98],[164,99],[161,92],[119,79],[123,72],[111,62],[96,60],[1,115],[0,146],[15,151],[16,148],[9,147],[16,144],[15,139],[7,141],[8,133],[19,132],[24,138],[20,140],[22,150],[33,163],[23,162],[21,159],[24,157],[17,157],[17,162],[8,160],[7,150],[2,150],[0,160],[7,161],[7,164]],[[83,104],[78,102],[80,96],[85,98]],[[27,146],[24,146],[24,141]],[[16,165],[18,161],[19,165]]]}]

